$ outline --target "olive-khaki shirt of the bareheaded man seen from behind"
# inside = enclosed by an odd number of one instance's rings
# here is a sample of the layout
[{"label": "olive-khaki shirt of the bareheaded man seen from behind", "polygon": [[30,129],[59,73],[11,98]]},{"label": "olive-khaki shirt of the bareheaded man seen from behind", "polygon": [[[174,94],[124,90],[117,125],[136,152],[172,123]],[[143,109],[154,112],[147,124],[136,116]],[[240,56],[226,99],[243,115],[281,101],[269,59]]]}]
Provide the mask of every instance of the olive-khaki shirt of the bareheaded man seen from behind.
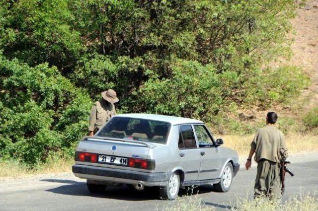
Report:
[{"label": "olive-khaki shirt of the bareheaded man seen from behind", "polygon": [[[260,159],[266,159],[279,163],[281,159],[280,150],[287,150],[284,134],[270,125],[258,129],[250,146],[255,149],[254,159],[256,162]],[[285,156],[287,157],[287,153]]]}]

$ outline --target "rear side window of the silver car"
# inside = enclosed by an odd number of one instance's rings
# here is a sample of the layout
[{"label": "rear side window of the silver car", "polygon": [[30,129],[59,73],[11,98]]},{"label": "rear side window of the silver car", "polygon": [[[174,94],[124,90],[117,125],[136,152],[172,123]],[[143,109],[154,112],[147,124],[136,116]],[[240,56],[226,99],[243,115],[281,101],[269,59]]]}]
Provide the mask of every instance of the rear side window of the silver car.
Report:
[{"label": "rear side window of the silver car", "polygon": [[179,129],[179,148],[196,148],[197,144],[195,142],[194,133],[190,125],[182,125]]}]

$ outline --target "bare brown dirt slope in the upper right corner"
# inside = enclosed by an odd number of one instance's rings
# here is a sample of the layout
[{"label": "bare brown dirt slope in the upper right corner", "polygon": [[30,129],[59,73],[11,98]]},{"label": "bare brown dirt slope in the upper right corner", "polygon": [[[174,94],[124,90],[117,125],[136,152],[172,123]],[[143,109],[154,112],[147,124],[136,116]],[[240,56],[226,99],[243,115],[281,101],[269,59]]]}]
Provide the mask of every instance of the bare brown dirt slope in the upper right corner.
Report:
[{"label": "bare brown dirt slope in the upper right corner", "polygon": [[311,85],[297,99],[293,99],[290,105],[273,105],[265,111],[239,111],[256,121],[263,120],[268,111],[276,111],[279,116],[301,118],[311,108],[318,106],[318,0],[308,0],[305,5],[299,4],[291,24],[293,29],[287,37],[292,43],[292,56],[289,60],[278,58],[270,66],[300,67],[311,79]]}]

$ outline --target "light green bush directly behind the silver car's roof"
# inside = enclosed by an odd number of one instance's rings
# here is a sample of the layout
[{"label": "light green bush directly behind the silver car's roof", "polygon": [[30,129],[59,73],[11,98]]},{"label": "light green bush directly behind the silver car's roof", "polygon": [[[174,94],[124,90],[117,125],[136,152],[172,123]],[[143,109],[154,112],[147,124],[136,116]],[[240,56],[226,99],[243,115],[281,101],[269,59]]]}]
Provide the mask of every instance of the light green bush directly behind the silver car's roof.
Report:
[{"label": "light green bush directly behind the silver car's roof", "polygon": [[198,119],[218,112],[222,87],[213,66],[177,60],[171,74],[171,78],[153,78],[141,86],[134,93],[134,110]]}]

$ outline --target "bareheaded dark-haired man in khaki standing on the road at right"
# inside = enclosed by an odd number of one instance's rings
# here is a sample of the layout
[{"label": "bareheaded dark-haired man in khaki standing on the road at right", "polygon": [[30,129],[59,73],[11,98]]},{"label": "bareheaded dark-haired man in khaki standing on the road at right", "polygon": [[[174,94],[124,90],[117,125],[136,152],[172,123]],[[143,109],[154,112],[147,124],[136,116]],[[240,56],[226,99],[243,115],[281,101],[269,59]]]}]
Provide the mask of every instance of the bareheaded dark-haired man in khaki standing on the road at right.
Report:
[{"label": "bareheaded dark-haired man in khaki standing on the road at right", "polygon": [[[254,197],[266,196],[270,199],[281,195],[280,179],[280,151],[286,151],[283,133],[274,127],[278,116],[269,112],[266,117],[266,126],[259,129],[251,142],[250,152],[245,163],[246,170],[251,166],[251,159],[257,163],[257,174],[254,186]],[[286,152],[285,152],[286,153]],[[287,156],[287,154],[284,154]]]}]

